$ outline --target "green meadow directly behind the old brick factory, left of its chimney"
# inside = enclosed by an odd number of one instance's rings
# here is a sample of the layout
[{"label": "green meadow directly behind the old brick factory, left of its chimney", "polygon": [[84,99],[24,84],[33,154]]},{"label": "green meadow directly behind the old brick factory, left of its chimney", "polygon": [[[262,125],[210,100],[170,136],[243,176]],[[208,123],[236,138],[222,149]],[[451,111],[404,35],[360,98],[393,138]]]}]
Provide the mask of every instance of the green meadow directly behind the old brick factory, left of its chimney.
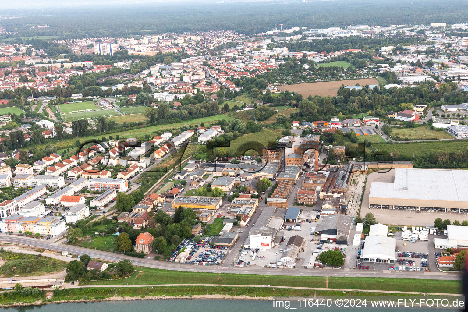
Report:
[{"label": "green meadow directly behind the old brick factory, left of its chimney", "polygon": [[[237,138],[234,141],[229,142],[229,147],[217,148],[225,148],[227,151],[233,150],[239,155],[244,152],[246,155],[262,155],[262,148],[267,147],[269,143],[273,143],[276,138],[278,138],[278,135],[275,132],[265,129],[260,132],[249,133]],[[248,147],[252,147],[252,149],[246,150]],[[256,151],[256,149],[259,150]]]}]

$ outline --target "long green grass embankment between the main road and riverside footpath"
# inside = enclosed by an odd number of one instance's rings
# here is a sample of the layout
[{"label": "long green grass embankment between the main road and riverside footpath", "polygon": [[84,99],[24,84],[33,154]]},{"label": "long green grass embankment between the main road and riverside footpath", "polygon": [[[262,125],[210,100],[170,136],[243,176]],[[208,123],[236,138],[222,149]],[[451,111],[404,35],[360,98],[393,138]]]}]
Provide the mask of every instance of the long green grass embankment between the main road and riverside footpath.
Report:
[{"label": "long green grass embankment between the main road and riverside footpath", "polygon": [[[233,284],[233,285],[272,285],[302,286],[318,288],[341,288],[357,290],[403,290],[419,292],[461,293],[461,282],[456,280],[411,279],[396,277],[327,277],[325,276],[278,276],[260,274],[230,274],[170,271],[158,268],[135,267],[135,272],[127,278],[129,285],[148,284]],[[82,281],[80,285],[125,285],[126,279],[107,281]],[[342,292],[343,295],[343,292]]]}]

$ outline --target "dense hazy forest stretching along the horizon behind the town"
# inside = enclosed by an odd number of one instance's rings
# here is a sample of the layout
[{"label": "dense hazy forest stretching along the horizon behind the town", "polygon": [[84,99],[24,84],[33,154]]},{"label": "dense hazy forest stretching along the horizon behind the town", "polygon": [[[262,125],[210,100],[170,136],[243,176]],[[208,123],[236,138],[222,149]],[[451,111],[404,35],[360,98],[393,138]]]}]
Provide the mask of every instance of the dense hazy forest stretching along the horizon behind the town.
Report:
[{"label": "dense hazy forest stretching along the horizon behind the town", "polygon": [[[234,30],[253,35],[284,24],[283,28],[346,27],[367,24],[460,23],[467,20],[463,1],[395,0],[311,1],[311,2],[243,2],[212,1],[157,2],[73,8],[47,7],[6,10],[4,15],[24,16],[0,22],[6,29],[16,28],[16,36],[60,36],[66,38],[136,36],[161,32]],[[186,14],[190,12],[189,14]],[[221,13],[222,12],[222,13]],[[105,21],[105,22],[104,22]],[[246,22],[249,21],[249,22]],[[48,24],[50,28],[29,29]],[[1,37],[0,37],[1,38]]]}]

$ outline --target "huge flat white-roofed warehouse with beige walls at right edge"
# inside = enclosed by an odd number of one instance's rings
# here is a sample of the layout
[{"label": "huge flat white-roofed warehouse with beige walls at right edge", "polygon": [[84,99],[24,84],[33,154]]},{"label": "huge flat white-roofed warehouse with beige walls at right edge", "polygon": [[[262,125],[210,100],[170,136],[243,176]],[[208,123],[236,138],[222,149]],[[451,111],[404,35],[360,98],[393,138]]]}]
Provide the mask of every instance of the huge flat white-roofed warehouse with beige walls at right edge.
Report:
[{"label": "huge flat white-roofed warehouse with beige walls at right edge", "polygon": [[372,182],[369,208],[468,212],[468,172],[395,168],[394,182]]}]

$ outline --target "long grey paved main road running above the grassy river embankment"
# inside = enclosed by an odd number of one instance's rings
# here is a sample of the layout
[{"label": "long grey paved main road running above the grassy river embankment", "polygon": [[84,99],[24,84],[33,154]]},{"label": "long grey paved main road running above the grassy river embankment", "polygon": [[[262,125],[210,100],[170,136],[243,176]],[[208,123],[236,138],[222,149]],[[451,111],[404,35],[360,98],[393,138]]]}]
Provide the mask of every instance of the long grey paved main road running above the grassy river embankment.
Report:
[{"label": "long grey paved main road running above the grassy river embankment", "polygon": [[[2,243],[16,243],[24,244],[39,248],[51,248],[59,251],[67,251],[73,254],[88,254],[91,258],[100,258],[108,261],[120,261],[129,259],[132,264],[149,267],[149,268],[162,268],[176,271],[186,272],[217,272],[217,273],[239,273],[239,274],[265,274],[265,275],[292,275],[292,276],[363,276],[363,277],[402,277],[402,278],[417,278],[417,279],[445,279],[445,280],[460,280],[459,274],[447,274],[442,272],[424,272],[420,274],[403,273],[399,271],[388,270],[354,270],[354,269],[272,269],[260,268],[258,266],[244,267],[244,268],[226,268],[220,266],[200,266],[200,265],[184,265],[168,261],[155,261],[152,259],[139,259],[129,257],[124,254],[113,254],[100,250],[93,250],[90,248],[83,248],[72,245],[52,245],[46,240],[39,240],[33,238],[19,237],[15,235],[0,234],[0,242]],[[235,252],[236,249],[233,249]]]}]

